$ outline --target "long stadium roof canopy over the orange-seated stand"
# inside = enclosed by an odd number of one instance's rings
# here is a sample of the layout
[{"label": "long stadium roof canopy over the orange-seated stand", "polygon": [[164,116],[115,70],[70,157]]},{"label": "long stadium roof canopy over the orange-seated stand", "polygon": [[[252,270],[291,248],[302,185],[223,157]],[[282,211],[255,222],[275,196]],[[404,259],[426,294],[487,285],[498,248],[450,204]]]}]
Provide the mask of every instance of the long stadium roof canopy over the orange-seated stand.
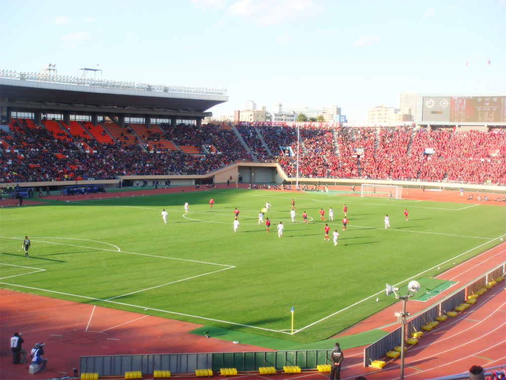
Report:
[{"label": "long stadium roof canopy over the orange-seated stand", "polygon": [[[128,117],[204,118],[207,109],[228,101],[226,90],[164,87],[87,81],[71,83],[58,77],[40,80],[0,75],[0,103],[8,111]],[[62,83],[59,83],[62,82]],[[200,91],[199,91],[200,90]]]}]

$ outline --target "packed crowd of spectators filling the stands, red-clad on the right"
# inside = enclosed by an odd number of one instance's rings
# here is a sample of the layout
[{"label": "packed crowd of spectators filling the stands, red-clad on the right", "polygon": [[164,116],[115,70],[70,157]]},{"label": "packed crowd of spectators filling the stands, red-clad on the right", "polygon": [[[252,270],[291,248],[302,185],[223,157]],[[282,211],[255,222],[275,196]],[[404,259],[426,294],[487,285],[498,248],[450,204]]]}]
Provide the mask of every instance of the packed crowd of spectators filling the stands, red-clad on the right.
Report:
[{"label": "packed crowd of spectators filling the stands, red-clad on the right", "polygon": [[[238,160],[251,160],[235,132],[217,125],[161,125],[163,138],[178,145],[212,145],[216,154],[181,151],[147,153],[140,146],[121,149],[88,137],[62,138],[32,120],[15,120],[11,134],[0,137],[12,146],[0,156],[0,180],[42,181],[114,178],[128,174],[205,173]],[[86,128],[86,125],[85,125]],[[271,158],[261,138],[290,177],[297,175],[298,131],[286,126],[241,125],[242,139],[259,159]],[[62,131],[63,134],[65,132]],[[68,136],[72,136],[70,133]],[[160,137],[160,136],[158,136]],[[312,178],[370,178],[461,183],[506,183],[506,131],[415,130],[414,126],[300,129],[299,175]],[[87,142],[85,154],[74,143]],[[291,147],[292,157],[281,150]],[[5,145],[4,145],[5,148]],[[15,151],[14,151],[15,150]],[[362,155],[357,155],[360,150]]]}]

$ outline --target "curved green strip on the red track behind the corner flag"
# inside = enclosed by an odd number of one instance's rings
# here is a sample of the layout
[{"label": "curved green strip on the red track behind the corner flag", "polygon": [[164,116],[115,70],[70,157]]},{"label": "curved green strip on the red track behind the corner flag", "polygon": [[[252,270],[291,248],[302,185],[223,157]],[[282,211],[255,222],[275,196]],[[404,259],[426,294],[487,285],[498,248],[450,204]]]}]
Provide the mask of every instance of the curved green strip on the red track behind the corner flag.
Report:
[{"label": "curved green strip on the red track behind the corner flag", "polygon": [[247,332],[229,330],[221,327],[202,326],[190,331],[192,334],[204,335],[204,331],[209,331],[209,337],[229,341],[238,341],[241,344],[264,347],[266,349],[285,351],[285,350],[331,350],[335,342],[339,341],[341,348],[349,349],[358,346],[370,345],[379,338],[388,333],[383,330],[370,330],[341,336],[339,338],[319,340],[312,343],[299,343],[292,340],[271,338],[269,336],[250,334]]}]

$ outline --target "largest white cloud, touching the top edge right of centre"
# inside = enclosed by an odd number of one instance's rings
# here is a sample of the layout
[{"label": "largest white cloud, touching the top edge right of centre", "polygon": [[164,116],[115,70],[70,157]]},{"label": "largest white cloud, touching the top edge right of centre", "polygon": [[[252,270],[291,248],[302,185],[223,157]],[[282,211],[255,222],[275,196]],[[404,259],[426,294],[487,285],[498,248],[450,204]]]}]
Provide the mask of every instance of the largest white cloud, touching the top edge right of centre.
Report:
[{"label": "largest white cloud, touching the top edge right of centre", "polygon": [[227,9],[232,17],[243,18],[259,26],[281,24],[320,12],[313,0],[239,0]]}]

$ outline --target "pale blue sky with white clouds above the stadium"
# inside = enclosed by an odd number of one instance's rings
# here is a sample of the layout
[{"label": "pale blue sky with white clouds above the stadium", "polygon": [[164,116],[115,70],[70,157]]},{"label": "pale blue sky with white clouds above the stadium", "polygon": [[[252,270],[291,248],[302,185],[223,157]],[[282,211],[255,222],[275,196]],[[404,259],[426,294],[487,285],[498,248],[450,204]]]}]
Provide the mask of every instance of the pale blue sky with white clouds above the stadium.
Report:
[{"label": "pale blue sky with white clouds above the stadium", "polygon": [[0,0],[0,12],[0,69],[98,65],[104,80],[226,88],[214,116],[252,100],[338,105],[361,122],[402,92],[506,91],[505,0]]}]

